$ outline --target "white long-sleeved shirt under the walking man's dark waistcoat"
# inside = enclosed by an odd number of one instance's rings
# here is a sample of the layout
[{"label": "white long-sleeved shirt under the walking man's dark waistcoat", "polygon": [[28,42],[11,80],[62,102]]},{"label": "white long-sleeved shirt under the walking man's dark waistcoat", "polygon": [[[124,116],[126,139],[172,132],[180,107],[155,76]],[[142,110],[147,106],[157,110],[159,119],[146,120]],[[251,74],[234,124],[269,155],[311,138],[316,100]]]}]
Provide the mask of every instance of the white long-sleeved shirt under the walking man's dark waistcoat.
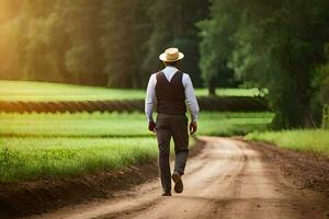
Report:
[{"label": "white long-sleeved shirt under the walking man's dark waistcoat", "polygon": [[[174,73],[178,71],[175,67],[168,66],[166,67],[162,72],[164,73],[167,80],[170,82]],[[191,114],[192,122],[197,120],[197,115],[200,112],[198,104],[194,94],[194,89],[192,84],[192,80],[189,74],[183,73],[182,83],[185,88],[185,103],[188,110]],[[146,99],[145,99],[145,114],[148,122],[152,122],[152,113],[154,113],[154,105],[156,104],[156,84],[157,78],[156,73],[150,76],[148,81],[147,91],[146,91]]]}]

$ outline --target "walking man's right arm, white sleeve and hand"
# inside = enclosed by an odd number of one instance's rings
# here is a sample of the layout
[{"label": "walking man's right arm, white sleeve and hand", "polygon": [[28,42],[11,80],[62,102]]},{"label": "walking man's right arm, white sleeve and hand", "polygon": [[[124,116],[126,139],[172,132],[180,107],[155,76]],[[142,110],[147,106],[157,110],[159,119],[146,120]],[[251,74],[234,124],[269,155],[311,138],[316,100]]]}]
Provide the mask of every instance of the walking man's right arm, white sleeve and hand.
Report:
[{"label": "walking man's right arm, white sleeve and hand", "polygon": [[186,99],[185,102],[192,119],[192,123],[190,124],[190,131],[191,134],[193,134],[196,131],[197,128],[196,122],[197,122],[200,107],[194,94],[193,83],[189,74],[184,74],[183,84],[185,88],[185,99]]}]

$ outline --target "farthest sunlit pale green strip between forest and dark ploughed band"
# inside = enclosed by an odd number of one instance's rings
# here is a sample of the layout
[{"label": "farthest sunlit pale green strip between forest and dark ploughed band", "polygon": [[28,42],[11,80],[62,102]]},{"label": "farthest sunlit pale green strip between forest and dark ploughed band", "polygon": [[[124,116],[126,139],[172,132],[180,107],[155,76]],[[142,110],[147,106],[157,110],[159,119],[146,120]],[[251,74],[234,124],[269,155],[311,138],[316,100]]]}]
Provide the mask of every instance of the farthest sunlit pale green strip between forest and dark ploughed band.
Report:
[{"label": "farthest sunlit pale green strip between forest and dark ploughed band", "polygon": [[[206,89],[196,89],[197,96],[207,95]],[[257,96],[258,89],[218,89],[222,96]],[[145,90],[107,89],[101,87],[61,83],[0,80],[0,101],[111,101],[140,100]]]}]

